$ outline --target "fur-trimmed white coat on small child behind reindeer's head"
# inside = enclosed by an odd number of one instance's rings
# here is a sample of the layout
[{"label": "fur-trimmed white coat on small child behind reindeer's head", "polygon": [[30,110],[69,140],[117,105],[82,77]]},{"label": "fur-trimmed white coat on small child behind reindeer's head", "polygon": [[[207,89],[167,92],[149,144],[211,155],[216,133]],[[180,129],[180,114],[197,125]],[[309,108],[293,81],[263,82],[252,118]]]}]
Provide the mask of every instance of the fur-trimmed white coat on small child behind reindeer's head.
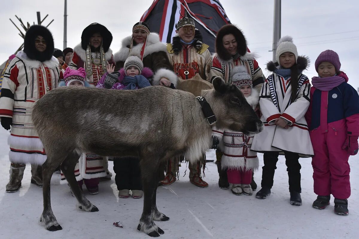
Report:
[{"label": "fur-trimmed white coat on small child behind reindeer's head", "polygon": [[[247,102],[253,109],[258,104],[259,93],[252,88],[250,96],[246,97]],[[222,169],[256,170],[259,167],[257,152],[251,151],[253,136],[248,137],[242,132],[231,130],[219,130],[212,128],[212,136],[222,139],[220,148],[223,151],[221,159]]]}]

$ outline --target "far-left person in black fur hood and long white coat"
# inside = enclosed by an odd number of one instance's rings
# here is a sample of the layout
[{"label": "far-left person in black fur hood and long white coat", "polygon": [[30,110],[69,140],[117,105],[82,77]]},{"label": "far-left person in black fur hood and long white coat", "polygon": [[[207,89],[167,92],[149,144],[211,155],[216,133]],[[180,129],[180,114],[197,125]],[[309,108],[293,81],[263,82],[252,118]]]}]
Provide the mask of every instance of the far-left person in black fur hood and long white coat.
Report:
[{"label": "far-left person in black fur hood and long white coat", "polygon": [[0,97],[1,125],[10,129],[10,181],[6,192],[21,186],[25,164],[32,164],[31,182],[42,186],[41,165],[46,153],[31,120],[33,104],[57,87],[62,73],[59,61],[52,56],[53,38],[46,27],[33,25],[19,51],[6,70]]}]

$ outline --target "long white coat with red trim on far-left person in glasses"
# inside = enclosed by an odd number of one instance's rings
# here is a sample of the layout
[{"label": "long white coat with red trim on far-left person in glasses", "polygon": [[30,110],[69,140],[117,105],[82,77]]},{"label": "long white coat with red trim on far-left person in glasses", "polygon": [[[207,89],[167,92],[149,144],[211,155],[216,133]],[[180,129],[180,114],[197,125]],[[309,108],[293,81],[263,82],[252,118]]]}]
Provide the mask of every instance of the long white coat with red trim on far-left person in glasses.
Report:
[{"label": "long white coat with red trim on far-left person in glasses", "polygon": [[19,51],[6,70],[0,98],[0,116],[13,119],[9,159],[13,163],[42,164],[46,152],[34,129],[31,114],[33,104],[57,87],[59,61],[55,57],[45,62],[29,59]]}]

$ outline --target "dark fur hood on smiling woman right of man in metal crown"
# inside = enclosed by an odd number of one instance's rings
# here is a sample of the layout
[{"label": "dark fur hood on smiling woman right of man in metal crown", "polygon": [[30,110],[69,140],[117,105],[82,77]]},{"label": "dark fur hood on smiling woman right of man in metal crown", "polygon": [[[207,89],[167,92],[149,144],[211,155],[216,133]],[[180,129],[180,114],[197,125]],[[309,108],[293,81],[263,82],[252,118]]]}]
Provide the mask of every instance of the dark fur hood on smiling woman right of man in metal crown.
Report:
[{"label": "dark fur hood on smiling woman right of man in metal crown", "polygon": [[241,29],[232,24],[224,25],[219,29],[216,37],[216,53],[217,56],[224,61],[228,61],[232,58],[232,56],[223,46],[223,37],[228,34],[233,34],[236,38],[237,52],[240,56],[244,56],[247,52],[247,40],[244,37]]}]

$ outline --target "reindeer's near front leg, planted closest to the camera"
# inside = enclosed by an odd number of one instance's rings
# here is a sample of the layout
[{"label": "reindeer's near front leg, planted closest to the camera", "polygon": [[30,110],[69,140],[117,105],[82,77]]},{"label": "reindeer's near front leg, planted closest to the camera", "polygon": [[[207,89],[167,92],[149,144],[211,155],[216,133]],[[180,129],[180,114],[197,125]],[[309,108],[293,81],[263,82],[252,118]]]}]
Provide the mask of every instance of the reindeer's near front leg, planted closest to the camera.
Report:
[{"label": "reindeer's near front leg, planted closest to the camera", "polygon": [[153,221],[152,216],[152,198],[155,193],[155,187],[158,185],[158,173],[157,168],[159,166],[159,158],[156,156],[146,157],[142,159],[141,173],[143,180],[143,211],[140,218],[140,223],[137,226],[137,230],[143,230],[149,236],[158,237],[163,234],[164,231],[160,229]]}]

